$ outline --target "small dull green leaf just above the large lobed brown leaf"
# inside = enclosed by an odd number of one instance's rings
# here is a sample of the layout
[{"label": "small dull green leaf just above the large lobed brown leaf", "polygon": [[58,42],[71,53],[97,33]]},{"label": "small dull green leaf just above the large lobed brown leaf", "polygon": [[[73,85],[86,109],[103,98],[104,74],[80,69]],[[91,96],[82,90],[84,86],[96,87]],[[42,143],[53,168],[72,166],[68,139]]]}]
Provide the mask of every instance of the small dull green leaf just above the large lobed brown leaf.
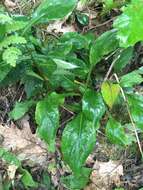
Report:
[{"label": "small dull green leaf just above the large lobed brown leaf", "polygon": [[18,120],[22,118],[35,102],[28,100],[25,102],[16,102],[14,109],[9,113],[11,119]]}]

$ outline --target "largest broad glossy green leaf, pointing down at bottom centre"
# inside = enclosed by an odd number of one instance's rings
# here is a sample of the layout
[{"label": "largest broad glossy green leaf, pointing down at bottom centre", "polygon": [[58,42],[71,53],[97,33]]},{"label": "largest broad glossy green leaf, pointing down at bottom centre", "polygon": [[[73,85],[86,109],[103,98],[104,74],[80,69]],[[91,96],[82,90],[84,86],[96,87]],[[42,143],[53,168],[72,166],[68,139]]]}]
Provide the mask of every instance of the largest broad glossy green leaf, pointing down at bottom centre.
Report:
[{"label": "largest broad glossy green leaf, pointing down at bottom centre", "polygon": [[62,154],[65,162],[76,176],[92,152],[96,142],[96,127],[93,122],[80,113],[64,129],[62,136]]}]

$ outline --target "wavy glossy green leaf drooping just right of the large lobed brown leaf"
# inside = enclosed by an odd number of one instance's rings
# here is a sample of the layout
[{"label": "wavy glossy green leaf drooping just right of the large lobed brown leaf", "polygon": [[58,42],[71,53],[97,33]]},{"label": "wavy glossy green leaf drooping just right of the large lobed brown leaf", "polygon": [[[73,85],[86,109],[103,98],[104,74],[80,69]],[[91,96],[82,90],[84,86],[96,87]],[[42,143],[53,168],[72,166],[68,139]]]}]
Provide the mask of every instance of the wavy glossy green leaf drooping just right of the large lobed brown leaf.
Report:
[{"label": "wavy glossy green leaf drooping just right of the large lobed brown leaf", "polygon": [[63,102],[63,96],[53,92],[36,106],[37,134],[48,144],[49,151],[52,152],[55,151],[55,138],[59,127],[58,107]]}]

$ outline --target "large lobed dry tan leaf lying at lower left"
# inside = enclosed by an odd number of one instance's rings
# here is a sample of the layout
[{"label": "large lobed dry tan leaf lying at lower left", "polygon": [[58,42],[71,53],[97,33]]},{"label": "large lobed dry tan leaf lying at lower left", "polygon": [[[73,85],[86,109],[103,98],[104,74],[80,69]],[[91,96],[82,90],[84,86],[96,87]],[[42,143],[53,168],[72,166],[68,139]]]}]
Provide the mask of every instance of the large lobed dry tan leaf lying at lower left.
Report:
[{"label": "large lobed dry tan leaf lying at lower left", "polygon": [[0,125],[0,135],[4,139],[1,146],[12,151],[20,160],[26,161],[29,165],[46,165],[46,145],[31,133],[27,120],[25,120],[22,130],[15,125],[10,127]]}]

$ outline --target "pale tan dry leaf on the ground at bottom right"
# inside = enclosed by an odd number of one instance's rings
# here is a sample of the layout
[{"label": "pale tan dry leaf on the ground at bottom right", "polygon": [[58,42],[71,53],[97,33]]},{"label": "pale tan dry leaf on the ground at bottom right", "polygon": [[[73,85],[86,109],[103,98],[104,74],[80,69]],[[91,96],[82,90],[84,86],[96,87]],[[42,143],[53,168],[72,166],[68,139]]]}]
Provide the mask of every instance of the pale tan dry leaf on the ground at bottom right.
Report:
[{"label": "pale tan dry leaf on the ground at bottom right", "polygon": [[113,184],[120,186],[121,176],[123,176],[123,166],[118,161],[96,161],[90,176],[91,184],[85,190],[110,190]]}]

